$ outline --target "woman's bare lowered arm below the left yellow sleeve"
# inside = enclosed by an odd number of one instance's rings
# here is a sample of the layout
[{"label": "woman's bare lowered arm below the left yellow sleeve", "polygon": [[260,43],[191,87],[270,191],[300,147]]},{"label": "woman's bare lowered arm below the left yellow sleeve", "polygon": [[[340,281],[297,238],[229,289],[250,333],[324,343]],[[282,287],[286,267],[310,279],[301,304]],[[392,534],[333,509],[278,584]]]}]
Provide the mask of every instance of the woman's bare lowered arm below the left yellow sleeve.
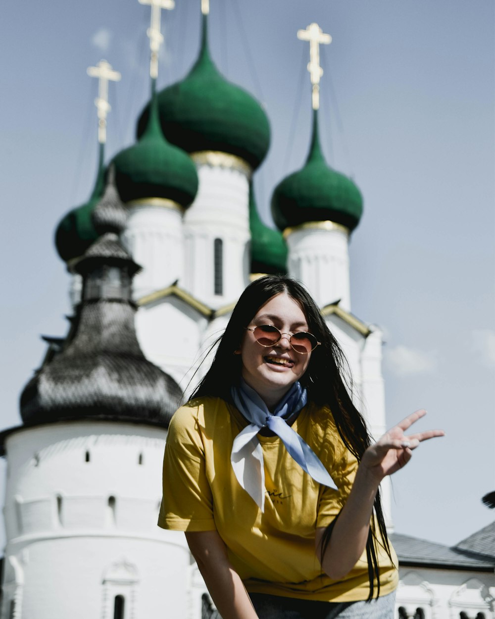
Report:
[{"label": "woman's bare lowered arm below the left yellow sleeve", "polygon": [[186,540],[222,619],[258,619],[218,532],[186,532]]}]

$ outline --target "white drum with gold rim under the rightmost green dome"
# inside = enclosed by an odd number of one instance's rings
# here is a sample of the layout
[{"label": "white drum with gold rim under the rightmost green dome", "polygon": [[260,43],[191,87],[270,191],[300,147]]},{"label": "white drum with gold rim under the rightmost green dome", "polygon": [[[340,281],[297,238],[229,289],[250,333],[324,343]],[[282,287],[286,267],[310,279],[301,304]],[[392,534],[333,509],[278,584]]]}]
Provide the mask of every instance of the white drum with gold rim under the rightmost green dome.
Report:
[{"label": "white drum with gold rim under the rightmost green dome", "polygon": [[284,234],[289,274],[306,285],[317,305],[340,299],[340,307],[350,311],[348,229],[329,221],[309,222]]}]

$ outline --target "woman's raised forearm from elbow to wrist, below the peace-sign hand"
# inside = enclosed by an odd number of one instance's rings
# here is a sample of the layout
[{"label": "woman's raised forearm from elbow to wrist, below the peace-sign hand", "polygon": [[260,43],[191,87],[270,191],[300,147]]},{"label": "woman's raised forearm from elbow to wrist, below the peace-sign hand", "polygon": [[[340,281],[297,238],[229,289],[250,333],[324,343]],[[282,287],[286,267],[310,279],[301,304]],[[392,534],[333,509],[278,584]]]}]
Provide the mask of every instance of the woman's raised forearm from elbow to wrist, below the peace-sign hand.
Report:
[{"label": "woman's raised forearm from elbow to wrist, below the peace-sign hand", "polygon": [[[348,574],[366,548],[378,488],[376,477],[360,465],[322,558],[322,569],[333,580],[340,580]],[[318,529],[316,536],[316,552],[319,558],[323,532],[324,529]]]}]

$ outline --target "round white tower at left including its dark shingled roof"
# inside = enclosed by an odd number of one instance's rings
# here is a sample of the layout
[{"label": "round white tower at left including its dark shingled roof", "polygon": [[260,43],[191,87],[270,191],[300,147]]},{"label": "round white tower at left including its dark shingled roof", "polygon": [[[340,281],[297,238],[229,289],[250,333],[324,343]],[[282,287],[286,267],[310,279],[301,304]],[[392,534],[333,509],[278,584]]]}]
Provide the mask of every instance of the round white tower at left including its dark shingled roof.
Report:
[{"label": "round white tower at left including its dark shingled roof", "polygon": [[[112,171],[110,176],[113,176]],[[187,616],[189,550],[158,529],[166,428],[177,383],[142,354],[126,212],[110,184],[98,240],[77,262],[82,300],[61,352],[21,396],[2,435],[9,474],[1,619]]]}]

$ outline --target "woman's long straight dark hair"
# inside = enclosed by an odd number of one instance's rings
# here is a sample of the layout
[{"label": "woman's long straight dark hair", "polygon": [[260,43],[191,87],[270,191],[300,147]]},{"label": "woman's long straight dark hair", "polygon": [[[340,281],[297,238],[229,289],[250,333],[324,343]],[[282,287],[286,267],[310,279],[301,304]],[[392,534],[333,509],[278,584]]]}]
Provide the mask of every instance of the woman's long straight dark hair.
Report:
[{"label": "woman's long straight dark hair", "polygon": [[[299,382],[308,390],[309,401],[329,407],[343,443],[359,462],[364,451],[371,444],[371,436],[368,433],[363,416],[356,409],[351,399],[352,381],[347,360],[311,295],[303,285],[290,277],[267,275],[255,280],[244,290],[232,312],[225,332],[214,344],[218,344],[218,348],[213,363],[192,394],[191,399],[200,396],[218,396],[227,402],[231,401],[230,388],[233,384],[239,382],[242,371],[241,355],[234,355],[233,352],[240,347],[245,327],[251,322],[259,308],[270,298],[280,293],[286,293],[301,306],[308,322],[309,332],[316,335],[321,342],[321,345],[311,353],[308,369],[301,376]],[[381,545],[392,560],[379,492],[374,501],[374,511]],[[335,521],[336,519],[324,532],[322,556],[329,545]],[[375,579],[377,581],[377,597],[380,594],[379,565],[376,556],[376,545],[380,542],[378,542],[375,529],[374,519],[372,519],[368,541],[366,542],[369,578],[368,600],[373,597]]]}]

